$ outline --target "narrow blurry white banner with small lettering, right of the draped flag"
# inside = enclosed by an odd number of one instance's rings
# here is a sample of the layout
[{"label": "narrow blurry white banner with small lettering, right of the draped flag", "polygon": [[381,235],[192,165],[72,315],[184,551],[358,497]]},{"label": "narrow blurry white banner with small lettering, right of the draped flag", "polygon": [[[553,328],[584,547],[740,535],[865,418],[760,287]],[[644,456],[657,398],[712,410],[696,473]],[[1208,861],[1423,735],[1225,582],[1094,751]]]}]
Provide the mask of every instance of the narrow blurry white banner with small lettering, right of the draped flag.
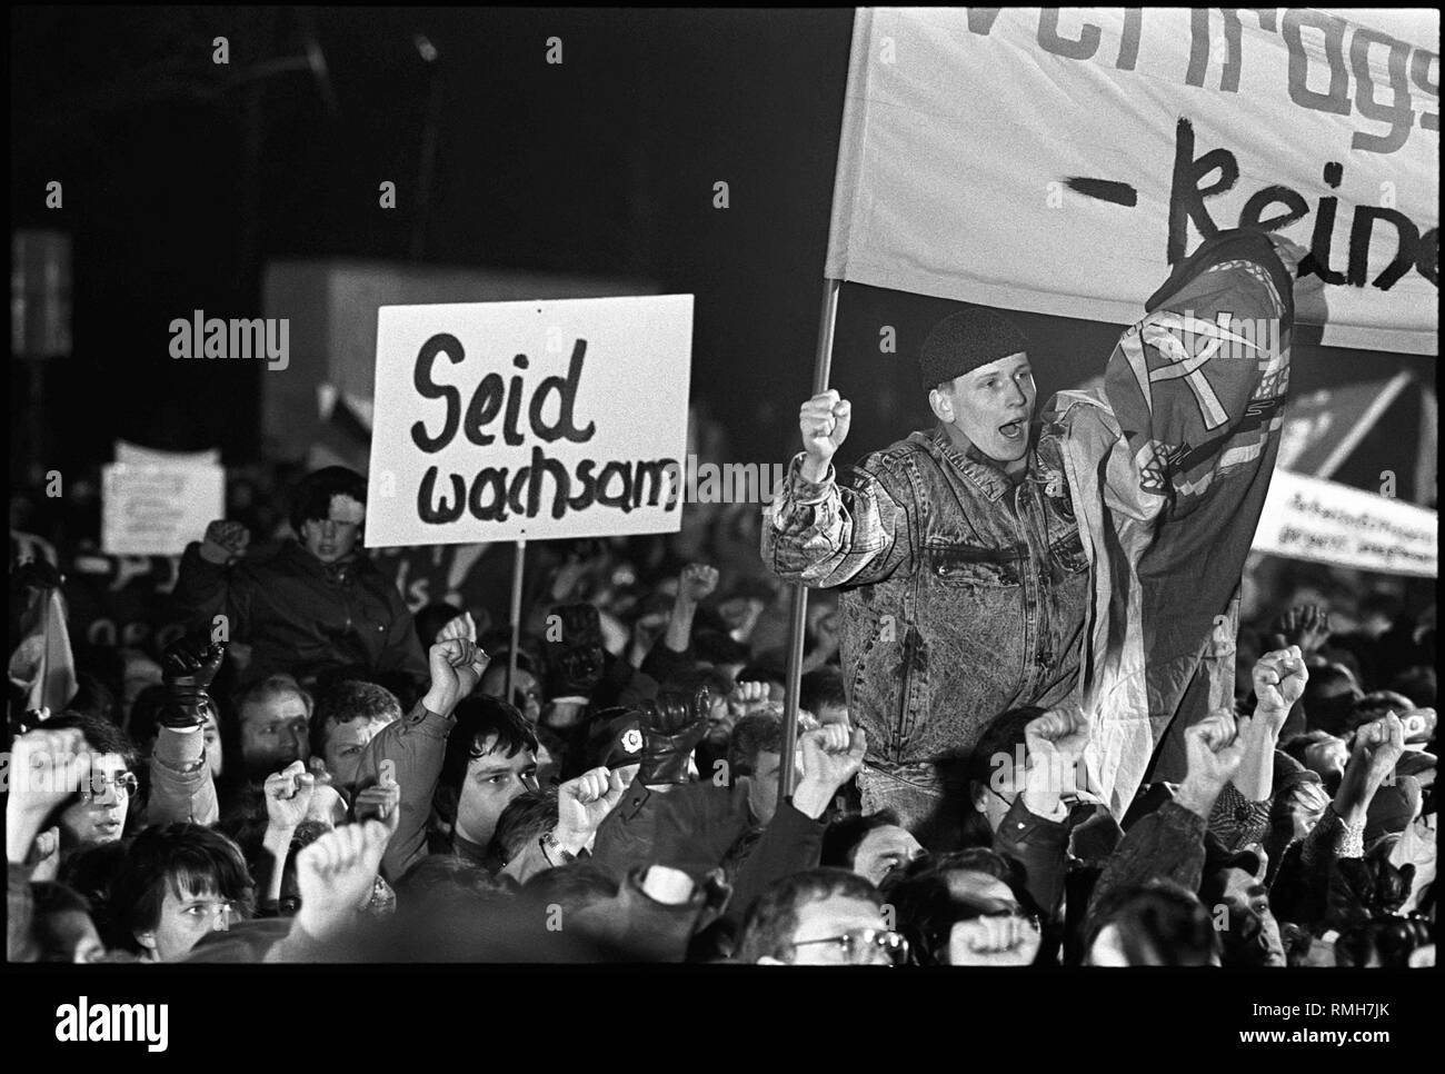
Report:
[{"label": "narrow blurry white banner with small lettering, right of the draped flag", "polygon": [[1389,496],[1276,470],[1254,549],[1357,571],[1439,575],[1439,516]]}]

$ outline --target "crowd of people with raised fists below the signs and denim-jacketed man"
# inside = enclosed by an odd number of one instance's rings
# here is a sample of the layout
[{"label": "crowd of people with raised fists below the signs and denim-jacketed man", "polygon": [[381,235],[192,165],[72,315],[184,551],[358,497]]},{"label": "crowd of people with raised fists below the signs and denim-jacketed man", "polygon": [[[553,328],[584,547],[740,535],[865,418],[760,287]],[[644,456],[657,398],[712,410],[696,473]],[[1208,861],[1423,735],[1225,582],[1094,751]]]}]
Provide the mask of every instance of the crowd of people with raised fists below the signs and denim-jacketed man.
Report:
[{"label": "crowd of people with raised fists below the signs and denim-jacketed man", "polygon": [[1433,964],[1433,607],[1243,626],[1234,711],[1123,815],[1078,778],[1078,710],[1010,710],[935,833],[863,809],[827,591],[782,756],[756,506],[556,542],[513,653],[473,609],[407,610],[366,499],[328,468],[279,539],[212,523],[186,633],[77,643],[55,711],[26,684],[65,580],[12,519],[12,961]]}]

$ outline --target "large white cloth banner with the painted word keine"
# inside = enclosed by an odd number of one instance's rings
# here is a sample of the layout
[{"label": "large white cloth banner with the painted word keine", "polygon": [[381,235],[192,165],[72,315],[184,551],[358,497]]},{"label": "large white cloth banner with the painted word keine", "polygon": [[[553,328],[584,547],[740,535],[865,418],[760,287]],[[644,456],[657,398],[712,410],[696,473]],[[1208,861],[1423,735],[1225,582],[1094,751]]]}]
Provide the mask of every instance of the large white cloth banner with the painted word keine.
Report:
[{"label": "large white cloth banner with the painted word keine", "polygon": [[860,9],[827,275],[1131,324],[1260,225],[1325,344],[1436,354],[1439,13],[1350,14]]}]

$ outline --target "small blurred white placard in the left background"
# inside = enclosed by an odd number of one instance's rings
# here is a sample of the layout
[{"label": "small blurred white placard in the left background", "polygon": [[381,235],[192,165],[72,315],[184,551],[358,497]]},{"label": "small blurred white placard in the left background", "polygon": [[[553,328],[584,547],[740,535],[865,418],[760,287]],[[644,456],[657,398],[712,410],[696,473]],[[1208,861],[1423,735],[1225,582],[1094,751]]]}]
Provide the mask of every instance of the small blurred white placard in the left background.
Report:
[{"label": "small blurred white placard in the left background", "polygon": [[225,470],[205,463],[104,468],[103,548],[107,555],[181,555],[225,516]]}]

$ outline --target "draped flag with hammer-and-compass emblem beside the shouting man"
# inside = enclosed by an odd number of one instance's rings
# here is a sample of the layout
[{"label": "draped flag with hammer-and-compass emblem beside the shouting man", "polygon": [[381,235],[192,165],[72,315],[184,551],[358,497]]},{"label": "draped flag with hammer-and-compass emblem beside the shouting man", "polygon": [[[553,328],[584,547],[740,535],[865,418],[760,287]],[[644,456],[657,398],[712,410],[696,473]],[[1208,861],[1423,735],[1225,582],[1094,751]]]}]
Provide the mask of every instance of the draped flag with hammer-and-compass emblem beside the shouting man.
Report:
[{"label": "draped flag with hammer-and-compass emblem beside the shouting man", "polygon": [[1233,707],[1240,578],[1289,390],[1292,279],[1267,239],[1227,231],[1147,309],[1103,392],[1061,392],[1045,413],[1062,426],[1095,568],[1088,763],[1116,814],[1146,776],[1181,779],[1183,729]]}]

